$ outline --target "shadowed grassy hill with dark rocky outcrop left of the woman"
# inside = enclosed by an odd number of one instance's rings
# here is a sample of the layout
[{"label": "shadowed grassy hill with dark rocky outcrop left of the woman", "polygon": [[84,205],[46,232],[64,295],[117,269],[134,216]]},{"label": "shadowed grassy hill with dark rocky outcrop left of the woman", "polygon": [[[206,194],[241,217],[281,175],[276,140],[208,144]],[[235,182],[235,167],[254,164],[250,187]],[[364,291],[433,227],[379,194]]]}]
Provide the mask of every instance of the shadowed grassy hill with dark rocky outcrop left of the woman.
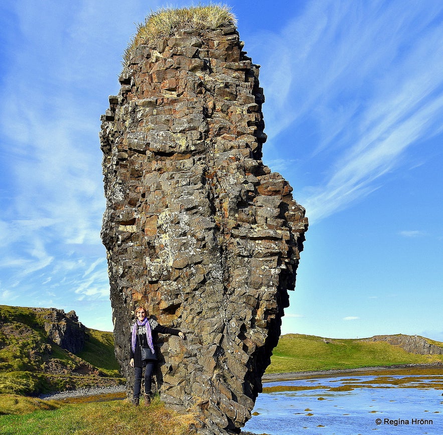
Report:
[{"label": "shadowed grassy hill with dark rocky outcrop left of the woman", "polygon": [[0,394],[38,395],[124,382],[112,333],[74,311],[0,305]]}]

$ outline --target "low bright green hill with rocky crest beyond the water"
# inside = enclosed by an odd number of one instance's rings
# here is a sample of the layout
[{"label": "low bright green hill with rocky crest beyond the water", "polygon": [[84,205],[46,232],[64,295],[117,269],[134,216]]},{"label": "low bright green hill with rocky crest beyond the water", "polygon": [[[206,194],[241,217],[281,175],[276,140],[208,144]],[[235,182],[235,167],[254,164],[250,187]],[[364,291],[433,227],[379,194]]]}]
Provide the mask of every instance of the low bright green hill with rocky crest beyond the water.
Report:
[{"label": "low bright green hill with rocky crest beyond the water", "polygon": [[355,340],[287,334],[272,354],[266,373],[443,364],[443,343],[401,334]]}]

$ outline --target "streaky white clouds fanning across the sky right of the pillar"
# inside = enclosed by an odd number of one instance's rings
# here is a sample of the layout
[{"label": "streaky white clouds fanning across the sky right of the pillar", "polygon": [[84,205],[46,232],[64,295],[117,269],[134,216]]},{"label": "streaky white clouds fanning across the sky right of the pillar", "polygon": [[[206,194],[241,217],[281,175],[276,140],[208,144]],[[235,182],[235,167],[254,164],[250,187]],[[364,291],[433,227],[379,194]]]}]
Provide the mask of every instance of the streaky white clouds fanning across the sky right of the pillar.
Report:
[{"label": "streaky white clouds fanning across the sky right of the pillar", "polygon": [[269,142],[305,125],[311,159],[332,162],[299,194],[311,223],[380,188],[408,147],[441,133],[443,5],[427,6],[309,2],[264,39]]}]

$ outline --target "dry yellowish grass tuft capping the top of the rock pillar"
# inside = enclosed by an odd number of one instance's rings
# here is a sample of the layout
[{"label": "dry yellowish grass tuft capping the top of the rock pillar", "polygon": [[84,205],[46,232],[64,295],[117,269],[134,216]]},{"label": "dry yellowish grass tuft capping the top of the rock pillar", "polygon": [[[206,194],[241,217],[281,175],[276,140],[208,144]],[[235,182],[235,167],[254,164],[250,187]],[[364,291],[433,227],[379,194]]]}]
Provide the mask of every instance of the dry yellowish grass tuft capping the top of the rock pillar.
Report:
[{"label": "dry yellowish grass tuft capping the top of the rock pillar", "polygon": [[134,48],[140,45],[153,46],[178,30],[217,29],[223,23],[236,25],[237,20],[231,8],[221,4],[199,4],[183,9],[161,8],[157,12],[151,11],[144,23],[137,25],[136,34],[130,40],[123,58],[128,61]]}]

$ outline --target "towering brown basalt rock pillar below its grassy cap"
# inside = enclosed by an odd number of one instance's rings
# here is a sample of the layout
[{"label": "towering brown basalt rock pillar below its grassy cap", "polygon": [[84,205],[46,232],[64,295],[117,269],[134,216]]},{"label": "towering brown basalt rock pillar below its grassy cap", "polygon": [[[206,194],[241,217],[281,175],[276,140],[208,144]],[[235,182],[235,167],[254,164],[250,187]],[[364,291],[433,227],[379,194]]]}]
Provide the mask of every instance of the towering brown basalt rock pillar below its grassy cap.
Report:
[{"label": "towering brown basalt rock pillar below its grassy cap", "polygon": [[[135,306],[165,337],[156,380],[202,433],[238,433],[280,335],[308,222],[261,161],[259,66],[234,26],[140,46],[100,133],[116,356],[128,366]],[[130,391],[128,391],[130,394]]]}]

